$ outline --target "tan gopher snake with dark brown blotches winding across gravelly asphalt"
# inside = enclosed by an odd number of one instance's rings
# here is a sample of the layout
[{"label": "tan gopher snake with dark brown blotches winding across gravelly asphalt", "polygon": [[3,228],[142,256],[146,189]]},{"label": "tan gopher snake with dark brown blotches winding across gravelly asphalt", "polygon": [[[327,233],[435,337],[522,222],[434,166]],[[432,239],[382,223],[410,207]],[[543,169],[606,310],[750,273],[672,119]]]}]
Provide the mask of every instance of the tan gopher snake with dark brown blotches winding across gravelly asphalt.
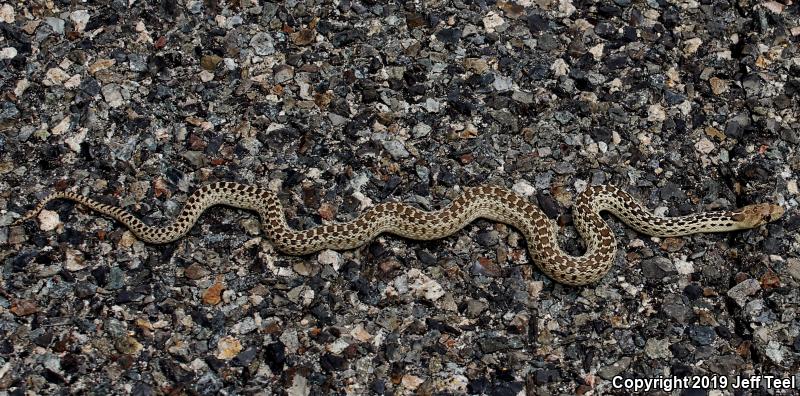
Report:
[{"label": "tan gopher snake with dark brown blotches winding across gravelly asphalt", "polygon": [[148,226],[121,208],[72,192],[51,194],[12,225],[36,216],[54,199],[72,200],[110,216],[148,243],[167,243],[181,238],[211,206],[248,209],[261,216],[262,227],[276,248],[292,255],[322,249],[353,249],[384,232],[410,239],[439,239],[477,218],[485,218],[521,231],[533,262],[547,276],[568,285],[593,283],[602,278],[613,263],[617,244],[611,228],[600,217],[602,211],[612,213],[641,233],[659,237],[754,228],[783,215],[783,209],[778,205],[755,204],[734,211],[664,218],[653,215],[619,188],[592,186],[578,196],[573,210],[575,226],[586,239],[586,253],[575,257],[558,246],[555,223],[538,207],[500,187],[466,188],[449,206],[438,211],[426,212],[406,204],[388,202],[367,209],[347,223],[297,231],[286,223],[275,193],[238,183],[217,182],[207,184],[189,196],[178,217],[166,227]]}]

